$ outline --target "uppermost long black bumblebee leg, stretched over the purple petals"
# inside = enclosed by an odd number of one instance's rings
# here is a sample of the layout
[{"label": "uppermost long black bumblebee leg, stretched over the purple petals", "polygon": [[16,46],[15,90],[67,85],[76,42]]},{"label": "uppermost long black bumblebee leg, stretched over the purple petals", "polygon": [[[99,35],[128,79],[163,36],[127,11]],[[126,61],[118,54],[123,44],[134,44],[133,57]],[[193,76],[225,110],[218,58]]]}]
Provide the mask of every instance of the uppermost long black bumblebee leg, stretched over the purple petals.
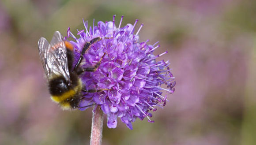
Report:
[{"label": "uppermost long black bumblebee leg, stretched over the purple petals", "polygon": [[[112,38],[112,37],[105,37],[105,39],[110,39],[110,38]],[[82,51],[81,51],[81,53],[80,53],[79,60],[78,60],[78,62],[75,64],[74,71],[77,71],[77,68],[78,68],[79,64],[80,64],[80,63],[82,62],[82,60],[83,60],[83,55],[85,54],[85,52],[87,52],[87,50],[90,49],[90,46],[93,45],[94,43],[100,41],[100,40],[102,40],[101,37],[96,37],[96,38],[92,39],[90,42],[86,42],[86,44],[84,45],[84,47],[83,47],[83,49],[82,49]]]}]

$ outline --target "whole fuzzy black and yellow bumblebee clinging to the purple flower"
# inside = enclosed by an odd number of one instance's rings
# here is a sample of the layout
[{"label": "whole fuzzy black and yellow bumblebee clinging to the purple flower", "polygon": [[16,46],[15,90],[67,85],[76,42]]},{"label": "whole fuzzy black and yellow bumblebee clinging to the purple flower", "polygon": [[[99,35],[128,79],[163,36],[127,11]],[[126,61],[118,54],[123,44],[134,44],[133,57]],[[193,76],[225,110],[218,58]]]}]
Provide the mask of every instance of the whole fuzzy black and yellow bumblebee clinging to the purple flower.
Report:
[{"label": "whole fuzzy black and yellow bumblebee clinging to the purple flower", "polygon": [[64,41],[64,38],[59,31],[56,31],[53,34],[50,44],[44,37],[39,39],[38,50],[48,80],[51,99],[58,103],[63,110],[87,107],[79,106],[79,102],[83,100],[82,92],[95,93],[106,90],[87,90],[84,88],[81,78],[79,78],[79,75],[84,71],[93,72],[100,66],[105,53],[95,66],[87,68],[80,67],[83,55],[90,49],[91,45],[100,40],[102,40],[101,37],[96,37],[90,42],[86,42],[80,52],[79,60],[75,63],[75,67],[73,68],[73,45],[68,41]]}]

